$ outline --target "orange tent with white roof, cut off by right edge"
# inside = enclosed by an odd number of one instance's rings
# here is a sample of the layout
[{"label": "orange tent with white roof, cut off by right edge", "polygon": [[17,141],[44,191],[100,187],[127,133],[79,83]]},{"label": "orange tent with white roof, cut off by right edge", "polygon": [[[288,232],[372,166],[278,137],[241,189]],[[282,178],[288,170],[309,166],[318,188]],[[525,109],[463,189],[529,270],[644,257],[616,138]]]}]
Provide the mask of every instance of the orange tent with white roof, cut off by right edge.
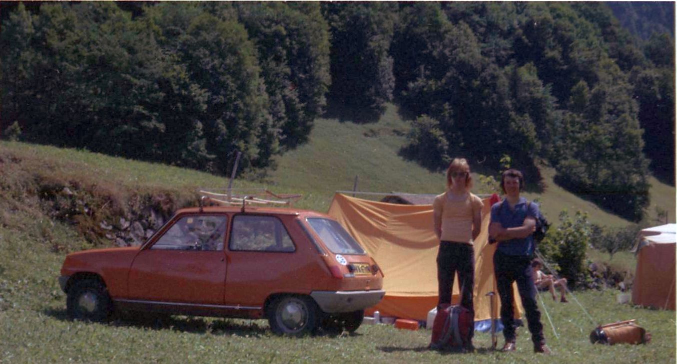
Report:
[{"label": "orange tent with white roof, cut off by right edge", "polygon": [[632,303],[657,309],[675,309],[675,240],[677,224],[642,230]]}]

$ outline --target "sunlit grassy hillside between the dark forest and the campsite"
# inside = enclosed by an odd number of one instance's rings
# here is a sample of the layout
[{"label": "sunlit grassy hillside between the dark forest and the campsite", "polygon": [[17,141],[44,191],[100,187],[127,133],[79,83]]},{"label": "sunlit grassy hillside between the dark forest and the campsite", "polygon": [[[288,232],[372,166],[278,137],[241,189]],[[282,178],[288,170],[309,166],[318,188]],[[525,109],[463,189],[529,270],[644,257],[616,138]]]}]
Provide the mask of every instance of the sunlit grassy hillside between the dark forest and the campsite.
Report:
[{"label": "sunlit grassy hillside between the dark forest and the campsite", "polygon": [[[336,119],[315,121],[310,141],[276,157],[278,168],[264,182],[235,181],[236,188],[267,186],[278,192],[304,195],[299,207],[326,211],[336,190],[352,190],[358,176],[357,190],[366,192],[439,193],[444,188],[442,173],[433,173],[397,155],[406,142],[409,124],[402,120],[393,105],[376,123],[353,124]],[[49,175],[51,180],[79,181],[79,184],[109,186],[112,194],[130,191],[173,190],[188,196],[198,188],[225,188],[228,179],[204,172],[159,163],[132,161],[89,151],[58,149],[20,142],[0,142],[0,153],[14,155],[24,170]],[[472,156],[465,156],[472,161]],[[11,159],[11,158],[9,158]],[[5,163],[7,163],[5,161]],[[624,226],[628,221],[600,209],[590,201],[567,192],[552,182],[554,170],[542,167],[546,189],[542,194],[527,193],[529,199],[540,199],[550,220],[562,209],[587,211],[590,221],[605,226]],[[9,175],[5,176],[5,179]],[[490,193],[494,189],[479,182],[475,174],[475,193]],[[12,178],[21,178],[13,176]],[[16,181],[21,183],[20,180]],[[656,207],[668,211],[669,221],[675,222],[675,188],[651,178],[649,217]],[[126,191],[126,192],[123,192]],[[196,201],[184,201],[191,204]]]}]

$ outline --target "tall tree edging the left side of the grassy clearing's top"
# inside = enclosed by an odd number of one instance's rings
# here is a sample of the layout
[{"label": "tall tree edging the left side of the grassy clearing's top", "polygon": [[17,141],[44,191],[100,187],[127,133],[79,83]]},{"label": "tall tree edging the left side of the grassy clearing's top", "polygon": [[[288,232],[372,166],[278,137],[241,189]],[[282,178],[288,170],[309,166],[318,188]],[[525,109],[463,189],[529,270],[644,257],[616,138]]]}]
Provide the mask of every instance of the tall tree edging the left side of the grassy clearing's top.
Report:
[{"label": "tall tree edging the left side of the grassy clearing's top", "polygon": [[261,76],[281,142],[307,141],[330,84],[328,24],[319,3],[237,3],[238,18],[257,47]]}]

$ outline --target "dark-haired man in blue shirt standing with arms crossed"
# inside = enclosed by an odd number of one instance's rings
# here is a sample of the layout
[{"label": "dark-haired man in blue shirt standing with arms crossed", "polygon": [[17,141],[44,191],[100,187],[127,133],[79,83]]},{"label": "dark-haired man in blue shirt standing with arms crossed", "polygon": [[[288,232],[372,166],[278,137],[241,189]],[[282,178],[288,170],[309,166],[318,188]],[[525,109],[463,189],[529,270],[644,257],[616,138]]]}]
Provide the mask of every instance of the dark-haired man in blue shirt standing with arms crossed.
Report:
[{"label": "dark-haired man in blue shirt standing with arms crossed", "polygon": [[505,345],[503,351],[515,351],[515,318],[512,308],[512,282],[522,298],[533,351],[550,354],[543,336],[541,313],[536,302],[536,286],[533,285],[531,257],[535,249],[533,234],[536,230],[538,206],[527,203],[519,194],[524,188],[524,177],[518,170],[506,170],[501,175],[501,188],[506,195],[500,203],[492,206],[492,222],[489,236],[498,240],[494,254],[494,274],[501,300],[501,321]]}]

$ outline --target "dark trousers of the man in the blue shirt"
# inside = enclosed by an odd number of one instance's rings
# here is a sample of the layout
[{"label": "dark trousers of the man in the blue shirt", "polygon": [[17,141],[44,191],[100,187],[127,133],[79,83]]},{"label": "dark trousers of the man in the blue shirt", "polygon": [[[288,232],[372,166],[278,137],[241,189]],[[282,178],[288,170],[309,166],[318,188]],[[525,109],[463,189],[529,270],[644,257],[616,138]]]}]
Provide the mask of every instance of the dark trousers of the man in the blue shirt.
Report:
[{"label": "dark trousers of the man in the blue shirt", "polygon": [[498,295],[501,299],[501,321],[506,342],[515,342],[515,318],[512,308],[512,282],[517,282],[517,290],[522,298],[531,341],[533,344],[545,344],[541,313],[536,302],[536,286],[533,285],[531,257],[525,255],[506,255],[500,251],[494,254],[494,274]]}]

